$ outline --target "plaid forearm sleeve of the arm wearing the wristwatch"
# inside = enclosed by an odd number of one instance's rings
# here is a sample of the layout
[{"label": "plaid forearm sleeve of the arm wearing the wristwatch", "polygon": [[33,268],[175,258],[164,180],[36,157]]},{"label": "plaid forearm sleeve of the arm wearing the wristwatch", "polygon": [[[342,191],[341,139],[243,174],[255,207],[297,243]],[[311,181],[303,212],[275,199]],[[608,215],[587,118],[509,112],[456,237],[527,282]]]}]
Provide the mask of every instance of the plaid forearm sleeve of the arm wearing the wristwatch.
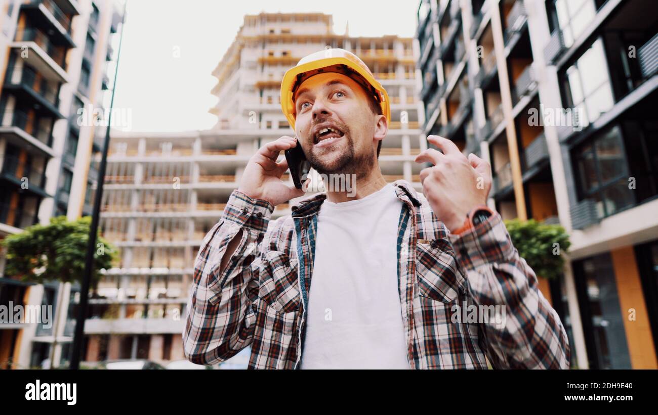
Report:
[{"label": "plaid forearm sleeve of the arm wearing the wristwatch", "polygon": [[513,246],[499,213],[449,238],[474,303],[504,306],[502,324],[481,324],[482,346],[493,366],[569,368],[565,328],[540,292],[534,271]]}]

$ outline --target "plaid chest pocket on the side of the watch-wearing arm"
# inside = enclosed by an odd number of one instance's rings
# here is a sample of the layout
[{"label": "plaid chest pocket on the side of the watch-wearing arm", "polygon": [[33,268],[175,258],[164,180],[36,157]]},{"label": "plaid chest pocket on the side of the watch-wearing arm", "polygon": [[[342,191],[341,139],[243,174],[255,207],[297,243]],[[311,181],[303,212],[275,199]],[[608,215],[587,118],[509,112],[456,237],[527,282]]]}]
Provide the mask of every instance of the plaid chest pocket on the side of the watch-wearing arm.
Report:
[{"label": "plaid chest pocket on the side of the watch-wearing arm", "polygon": [[447,239],[419,240],[416,248],[418,294],[443,303],[454,301],[466,282]]}]

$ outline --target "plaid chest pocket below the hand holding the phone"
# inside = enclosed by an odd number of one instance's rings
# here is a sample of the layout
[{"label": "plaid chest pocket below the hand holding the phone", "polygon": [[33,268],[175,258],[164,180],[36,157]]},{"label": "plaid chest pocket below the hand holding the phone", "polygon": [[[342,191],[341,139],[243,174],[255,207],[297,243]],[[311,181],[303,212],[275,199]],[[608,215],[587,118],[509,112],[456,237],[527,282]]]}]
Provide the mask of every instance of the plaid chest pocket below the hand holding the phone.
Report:
[{"label": "plaid chest pocket below the hand holding the phone", "polygon": [[287,253],[266,251],[261,256],[258,296],[279,313],[299,310],[301,295],[297,263]]}]

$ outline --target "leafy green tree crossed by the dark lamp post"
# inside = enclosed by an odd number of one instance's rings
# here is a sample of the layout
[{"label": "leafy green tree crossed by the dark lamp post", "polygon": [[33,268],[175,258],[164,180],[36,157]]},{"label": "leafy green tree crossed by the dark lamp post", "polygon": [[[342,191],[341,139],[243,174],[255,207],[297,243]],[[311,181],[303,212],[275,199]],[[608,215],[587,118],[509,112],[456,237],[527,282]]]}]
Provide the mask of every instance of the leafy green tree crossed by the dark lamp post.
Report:
[{"label": "leafy green tree crossed by the dark lamp post", "polygon": [[[68,221],[65,216],[53,217],[49,225],[33,225],[19,234],[7,236],[0,243],[7,248],[5,274],[23,281],[59,280],[82,284],[91,217]],[[97,236],[91,286],[101,278],[101,270],[110,269],[116,249]]]}]

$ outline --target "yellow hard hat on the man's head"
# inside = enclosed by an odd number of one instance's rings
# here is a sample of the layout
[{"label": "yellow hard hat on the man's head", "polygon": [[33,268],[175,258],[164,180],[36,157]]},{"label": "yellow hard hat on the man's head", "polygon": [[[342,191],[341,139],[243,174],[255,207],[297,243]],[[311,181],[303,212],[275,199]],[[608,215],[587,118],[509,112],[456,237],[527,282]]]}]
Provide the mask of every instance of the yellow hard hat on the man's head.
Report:
[{"label": "yellow hard hat on the man's head", "polygon": [[374,79],[372,72],[359,56],[345,51],[345,49],[335,48],[324,49],[304,56],[296,66],[286,71],[284,79],[281,81],[281,110],[293,130],[295,129],[295,116],[297,116],[293,101],[295,91],[303,81],[322,72],[345,74],[360,83],[366,91],[372,93],[382,107],[382,114],[390,123],[391,105],[386,89]]}]

